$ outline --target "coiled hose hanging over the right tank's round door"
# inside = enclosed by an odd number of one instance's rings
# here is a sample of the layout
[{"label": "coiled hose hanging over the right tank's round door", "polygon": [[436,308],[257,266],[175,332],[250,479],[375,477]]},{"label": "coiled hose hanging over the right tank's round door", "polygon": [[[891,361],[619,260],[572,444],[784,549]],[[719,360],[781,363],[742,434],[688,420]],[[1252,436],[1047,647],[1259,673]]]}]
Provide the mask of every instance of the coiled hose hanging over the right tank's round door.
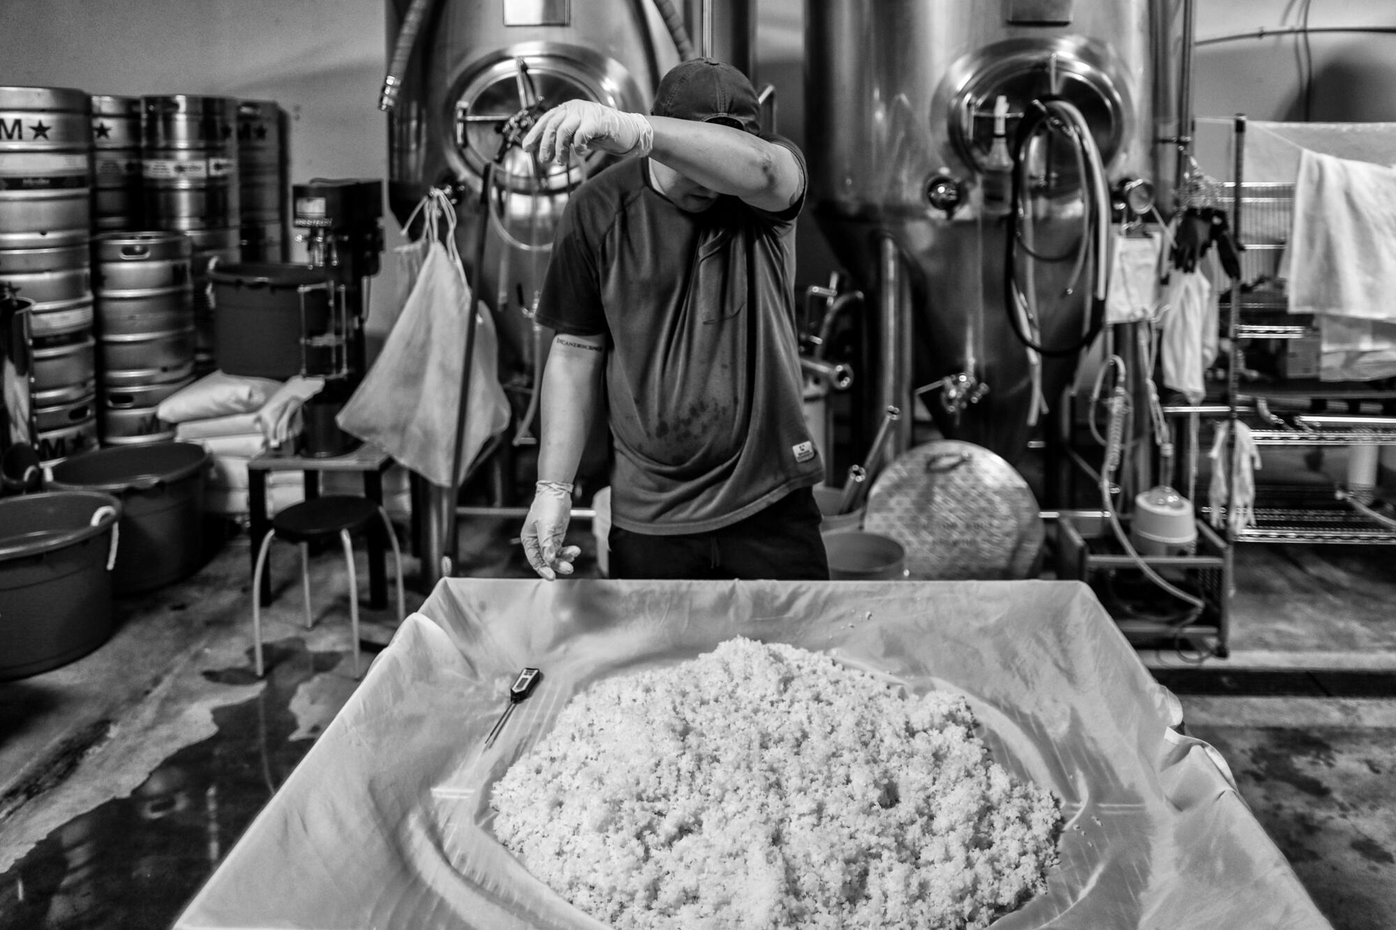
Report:
[{"label": "coiled hose hanging over the right tank's round door", "polygon": [[[1057,131],[1074,145],[1076,163],[1081,168],[1081,195],[1085,201],[1082,242],[1078,246],[1076,274],[1081,272],[1086,254],[1090,254],[1092,286],[1089,295],[1089,325],[1076,342],[1065,346],[1044,346],[1033,338],[1029,328],[1036,324],[1036,295],[1032,285],[1025,288],[1018,276],[1019,223],[1022,218],[1030,222],[1027,148],[1043,131]],[[1100,161],[1100,149],[1090,135],[1086,117],[1069,101],[1058,96],[1044,96],[1033,101],[1023,119],[1018,123],[1011,147],[1013,158],[1012,201],[1008,211],[1008,232],[1004,236],[1004,307],[1013,335],[1029,349],[1046,356],[1072,356],[1089,346],[1100,335],[1106,323],[1106,295],[1110,290],[1110,183]],[[1029,232],[1030,236],[1030,232]],[[1032,253],[1029,254],[1029,261]]]}]

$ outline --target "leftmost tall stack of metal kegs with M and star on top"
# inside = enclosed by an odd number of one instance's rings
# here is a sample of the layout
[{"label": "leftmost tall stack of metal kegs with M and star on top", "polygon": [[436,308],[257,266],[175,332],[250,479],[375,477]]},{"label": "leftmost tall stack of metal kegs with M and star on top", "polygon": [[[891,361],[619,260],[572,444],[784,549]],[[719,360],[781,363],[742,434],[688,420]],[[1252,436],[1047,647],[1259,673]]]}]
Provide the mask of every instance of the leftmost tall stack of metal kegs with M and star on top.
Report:
[{"label": "leftmost tall stack of metal kegs with M and star on top", "polygon": [[92,102],[56,87],[0,87],[0,285],[34,302],[31,399],[39,458],[95,448]]}]

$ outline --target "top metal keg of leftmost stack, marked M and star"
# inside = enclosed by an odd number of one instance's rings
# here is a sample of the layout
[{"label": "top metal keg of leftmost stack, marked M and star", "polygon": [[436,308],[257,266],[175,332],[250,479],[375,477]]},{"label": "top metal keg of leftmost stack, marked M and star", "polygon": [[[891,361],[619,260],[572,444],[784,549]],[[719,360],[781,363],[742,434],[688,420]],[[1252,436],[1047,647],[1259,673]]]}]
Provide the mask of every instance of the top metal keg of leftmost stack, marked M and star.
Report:
[{"label": "top metal keg of leftmost stack, marked M and star", "polygon": [[85,243],[92,103],[61,87],[0,87],[0,249]]}]

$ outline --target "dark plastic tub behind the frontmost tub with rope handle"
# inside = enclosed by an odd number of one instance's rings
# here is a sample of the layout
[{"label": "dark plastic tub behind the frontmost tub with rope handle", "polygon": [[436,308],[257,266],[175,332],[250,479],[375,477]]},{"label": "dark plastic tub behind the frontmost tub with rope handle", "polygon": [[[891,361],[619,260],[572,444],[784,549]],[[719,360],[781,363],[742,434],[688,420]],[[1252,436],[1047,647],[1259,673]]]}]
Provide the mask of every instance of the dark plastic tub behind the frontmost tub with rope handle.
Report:
[{"label": "dark plastic tub behind the frontmost tub with rope handle", "polygon": [[49,487],[102,490],[121,500],[117,593],[149,591],[202,564],[208,452],[197,443],[113,445],[53,466]]}]

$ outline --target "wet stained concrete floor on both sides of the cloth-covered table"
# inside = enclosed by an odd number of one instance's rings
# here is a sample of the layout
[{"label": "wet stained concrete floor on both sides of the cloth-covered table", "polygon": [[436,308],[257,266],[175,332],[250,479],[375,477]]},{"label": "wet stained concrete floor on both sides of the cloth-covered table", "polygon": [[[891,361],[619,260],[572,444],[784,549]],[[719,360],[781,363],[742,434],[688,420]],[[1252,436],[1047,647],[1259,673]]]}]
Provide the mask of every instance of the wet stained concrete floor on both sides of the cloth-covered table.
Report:
[{"label": "wet stained concrete floor on both sides of the cloth-covered table", "polygon": [[[515,522],[468,525],[462,574],[528,577]],[[595,575],[585,524],[574,536]],[[265,680],[233,535],[194,577],[119,599],[96,652],[0,684],[0,929],[169,926],[353,691],[342,566],[317,559],[306,630],[293,550],[276,552]],[[423,595],[409,588],[409,612]],[[1188,730],[1333,926],[1392,927],[1396,547],[1242,546],[1233,603],[1228,659],[1141,658],[1174,676]],[[366,638],[394,619],[366,610]]]}]

